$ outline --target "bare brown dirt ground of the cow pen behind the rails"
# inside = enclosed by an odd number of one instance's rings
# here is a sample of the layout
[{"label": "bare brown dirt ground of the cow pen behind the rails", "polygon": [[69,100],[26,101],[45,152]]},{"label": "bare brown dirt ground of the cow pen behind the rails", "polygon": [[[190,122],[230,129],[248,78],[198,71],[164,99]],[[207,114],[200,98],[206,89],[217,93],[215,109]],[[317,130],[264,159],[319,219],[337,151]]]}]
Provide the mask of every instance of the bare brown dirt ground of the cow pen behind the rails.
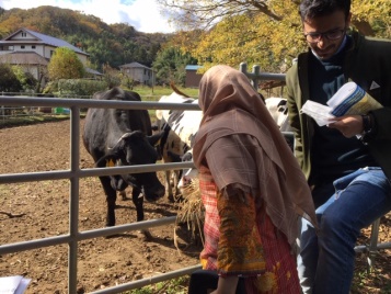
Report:
[{"label": "bare brown dirt ground of the cow pen behind the rails", "polygon": [[[69,169],[69,121],[0,129],[0,174]],[[80,147],[80,167],[92,168],[90,156]],[[162,173],[159,178],[163,182]],[[43,181],[0,185],[0,244],[14,244],[68,233],[69,181]],[[117,225],[136,220],[131,201],[117,201]],[[105,197],[96,178],[80,180],[79,229],[104,227]],[[175,215],[176,206],[165,197],[145,203],[146,219]],[[380,240],[391,241],[390,216],[381,220]],[[184,250],[174,246],[174,228]],[[94,238],[79,244],[78,292],[148,278],[198,264],[200,246],[191,241],[185,227],[169,225],[151,229],[153,238],[129,231],[113,238]],[[368,241],[370,229],[359,242]],[[366,273],[366,256],[357,255],[352,293],[391,293],[390,250],[381,250],[376,267]],[[0,276],[31,278],[26,293],[68,293],[68,247],[53,246],[0,256]]]}]

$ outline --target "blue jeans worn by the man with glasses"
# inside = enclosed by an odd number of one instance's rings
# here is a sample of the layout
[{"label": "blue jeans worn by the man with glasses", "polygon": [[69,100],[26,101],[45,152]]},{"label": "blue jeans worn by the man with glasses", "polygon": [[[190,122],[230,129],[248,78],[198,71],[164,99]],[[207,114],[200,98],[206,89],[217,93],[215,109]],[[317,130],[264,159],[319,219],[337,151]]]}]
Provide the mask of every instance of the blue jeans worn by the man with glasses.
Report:
[{"label": "blue jeans worn by the man with glasses", "polygon": [[380,168],[359,169],[333,184],[335,193],[317,210],[318,234],[301,222],[298,272],[303,293],[348,293],[361,228],[391,210],[390,182]]}]

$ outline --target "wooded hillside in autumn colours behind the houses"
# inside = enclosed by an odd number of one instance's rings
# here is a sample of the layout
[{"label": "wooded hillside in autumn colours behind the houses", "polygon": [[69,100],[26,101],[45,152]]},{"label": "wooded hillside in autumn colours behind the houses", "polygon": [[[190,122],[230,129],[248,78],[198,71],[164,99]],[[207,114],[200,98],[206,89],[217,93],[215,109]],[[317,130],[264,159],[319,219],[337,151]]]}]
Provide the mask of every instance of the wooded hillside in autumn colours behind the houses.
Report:
[{"label": "wooded hillside in autumn colours behind the houses", "polygon": [[21,27],[62,38],[90,54],[92,67],[103,64],[117,68],[137,61],[151,66],[161,44],[172,34],[142,33],[125,23],[106,24],[94,15],[56,7],[34,9],[0,8],[0,38]]}]

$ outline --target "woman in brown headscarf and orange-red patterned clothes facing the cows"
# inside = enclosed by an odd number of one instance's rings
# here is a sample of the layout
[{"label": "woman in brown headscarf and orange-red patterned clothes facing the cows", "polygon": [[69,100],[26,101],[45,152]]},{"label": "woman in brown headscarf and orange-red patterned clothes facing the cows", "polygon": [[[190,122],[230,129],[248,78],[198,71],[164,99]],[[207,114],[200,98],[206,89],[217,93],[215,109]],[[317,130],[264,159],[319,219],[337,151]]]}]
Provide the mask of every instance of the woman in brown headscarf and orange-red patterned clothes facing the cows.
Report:
[{"label": "woman in brown headscarf and orange-red patterned clothes facing the cows", "polygon": [[194,145],[206,208],[203,269],[214,294],[300,293],[294,244],[298,218],[315,222],[298,162],[248,77],[215,66],[199,84],[204,116]]}]

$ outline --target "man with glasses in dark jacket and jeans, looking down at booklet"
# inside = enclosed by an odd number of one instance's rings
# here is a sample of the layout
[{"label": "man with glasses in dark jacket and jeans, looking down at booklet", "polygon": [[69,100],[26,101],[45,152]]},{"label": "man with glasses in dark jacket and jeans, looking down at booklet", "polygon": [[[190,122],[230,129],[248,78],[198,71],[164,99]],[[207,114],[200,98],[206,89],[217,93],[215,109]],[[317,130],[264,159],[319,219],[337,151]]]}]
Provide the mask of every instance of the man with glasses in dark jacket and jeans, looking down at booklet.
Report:
[{"label": "man with glasses in dark jacket and jeans, looking down at booklet", "polygon": [[[298,272],[303,293],[348,293],[360,229],[391,210],[391,42],[349,32],[350,0],[302,0],[299,12],[309,52],[287,74],[288,110],[319,230],[302,220]],[[383,108],[326,126],[300,113],[348,81]]]}]

